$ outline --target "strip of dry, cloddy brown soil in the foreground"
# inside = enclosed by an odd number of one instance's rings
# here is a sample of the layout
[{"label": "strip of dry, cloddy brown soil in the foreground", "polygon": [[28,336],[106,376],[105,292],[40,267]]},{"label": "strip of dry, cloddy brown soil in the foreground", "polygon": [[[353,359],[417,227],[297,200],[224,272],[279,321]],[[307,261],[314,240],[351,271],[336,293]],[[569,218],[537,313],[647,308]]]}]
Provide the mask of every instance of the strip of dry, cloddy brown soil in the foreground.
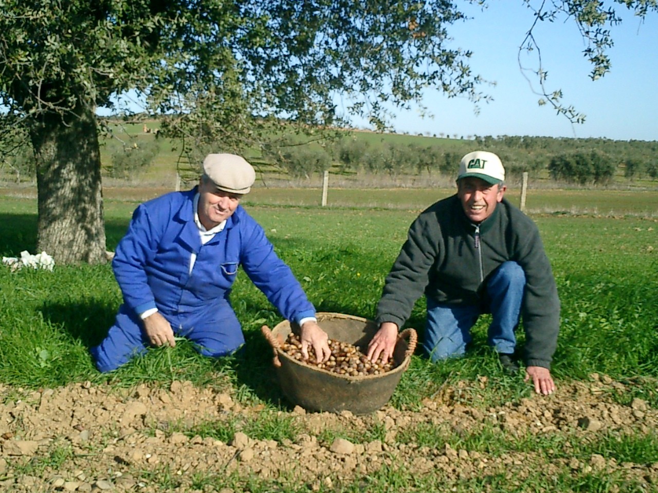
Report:
[{"label": "strip of dry, cloddy brown soil in the foreground", "polygon": [[[480,386],[486,385],[482,377]],[[174,381],[168,389],[111,390],[86,383],[26,392],[0,386],[0,490],[157,492],[163,481],[177,491],[213,490],[198,486],[198,479],[231,472],[269,480],[295,477],[310,490],[326,490],[386,465],[454,481],[499,474],[519,479],[541,469],[547,477],[565,470],[592,471],[621,475],[649,490],[658,484],[658,463],[618,463],[600,454],[569,458],[564,451],[547,461],[536,450],[486,454],[468,446],[430,448],[403,438],[414,427],[465,436],[493,427],[521,443],[542,435],[592,440],[609,431],[651,434],[657,429],[658,410],[640,399],[630,406],[615,404],[609,395],[624,392],[624,385],[609,379],[565,384],[553,396],[532,396],[499,408],[465,405],[462,390],[459,385],[444,388],[419,411],[391,406],[366,416],[281,411],[301,430],[292,442],[257,440],[244,431],[226,441],[193,436],[190,430],[204,423],[257,418],[263,406],[245,408],[228,393],[185,381]],[[364,432],[376,423],[384,427],[383,440],[324,441],[332,436],[327,430],[367,436]]]}]

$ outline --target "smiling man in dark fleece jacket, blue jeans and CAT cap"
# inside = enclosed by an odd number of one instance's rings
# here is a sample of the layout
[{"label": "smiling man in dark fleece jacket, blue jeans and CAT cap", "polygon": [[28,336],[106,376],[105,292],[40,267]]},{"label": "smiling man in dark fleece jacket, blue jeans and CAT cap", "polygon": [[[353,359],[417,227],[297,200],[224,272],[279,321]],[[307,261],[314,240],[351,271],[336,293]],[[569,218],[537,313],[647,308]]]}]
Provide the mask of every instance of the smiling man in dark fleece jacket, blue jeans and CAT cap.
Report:
[{"label": "smiling man in dark fleece jacket, blue jeans and CAT cap", "polygon": [[506,199],[505,169],[485,151],[461,160],[457,194],[424,210],[386,277],[377,305],[380,329],[368,358],[393,354],[399,327],[424,293],[427,322],[423,348],[432,361],[464,353],[470,329],[492,314],[488,343],[508,373],[515,361],[520,316],[526,333],[526,381],[551,394],[550,366],[557,344],[560,302],[539,231]]}]

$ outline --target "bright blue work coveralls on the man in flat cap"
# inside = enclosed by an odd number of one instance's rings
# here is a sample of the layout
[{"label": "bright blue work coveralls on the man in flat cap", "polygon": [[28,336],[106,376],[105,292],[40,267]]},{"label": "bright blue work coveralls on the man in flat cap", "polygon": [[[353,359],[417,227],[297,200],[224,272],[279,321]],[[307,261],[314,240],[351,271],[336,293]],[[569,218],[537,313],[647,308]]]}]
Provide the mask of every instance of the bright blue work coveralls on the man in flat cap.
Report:
[{"label": "bright blue work coveralls on the man in flat cap", "polygon": [[[265,231],[238,206],[226,226],[201,245],[194,222],[195,187],[149,200],[135,210],[112,267],[122,291],[114,325],[91,348],[96,367],[111,371],[149,346],[139,314],[157,308],[174,335],[206,356],[224,356],[244,343],[229,295],[238,266],[286,319],[315,316],[301,285],[274,252]],[[190,274],[191,254],[197,255]]]}]

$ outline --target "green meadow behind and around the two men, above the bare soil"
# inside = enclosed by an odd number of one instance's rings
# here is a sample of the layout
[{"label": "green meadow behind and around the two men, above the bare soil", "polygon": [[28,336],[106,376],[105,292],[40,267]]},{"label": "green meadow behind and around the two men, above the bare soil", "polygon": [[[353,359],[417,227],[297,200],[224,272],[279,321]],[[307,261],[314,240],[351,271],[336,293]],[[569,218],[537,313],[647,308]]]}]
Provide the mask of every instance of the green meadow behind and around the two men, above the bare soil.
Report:
[{"label": "green meadow behind and around the two men, above the bare soil", "polygon": [[[332,190],[330,206],[324,208],[316,205],[316,193],[260,190],[244,206],[265,227],[318,311],[373,317],[409,223],[432,200],[451,192]],[[513,194],[510,197],[515,200]],[[593,372],[641,382],[658,376],[657,200],[655,192],[528,195],[530,210],[551,211],[531,214],[540,227],[562,302],[553,366],[557,379],[586,379]],[[105,201],[109,250],[122,237],[137,203]],[[36,201],[0,197],[0,218],[0,254],[34,252]],[[271,386],[259,384],[259,369],[270,363],[259,329],[263,323],[274,327],[280,316],[244,275],[232,294],[248,341],[240,358],[206,360],[182,343],[173,350],[152,350],[109,377],[99,375],[88,348],[101,340],[120,300],[109,265],[56,266],[53,272],[1,268],[0,381],[28,388],[107,379],[118,385],[164,385],[182,378],[201,384],[219,371],[230,375],[231,385],[244,386],[251,398],[277,402],[279,396],[270,395]],[[484,344],[486,323],[486,317],[478,322],[473,348],[463,360],[428,365],[415,357],[393,402],[413,406],[446,379],[497,374],[497,360]],[[422,333],[423,325],[421,299],[407,326]],[[521,343],[522,339],[520,334]],[[251,369],[241,371],[241,365]],[[655,385],[647,382],[638,392],[658,403]],[[522,383],[511,390],[527,391]]]}]

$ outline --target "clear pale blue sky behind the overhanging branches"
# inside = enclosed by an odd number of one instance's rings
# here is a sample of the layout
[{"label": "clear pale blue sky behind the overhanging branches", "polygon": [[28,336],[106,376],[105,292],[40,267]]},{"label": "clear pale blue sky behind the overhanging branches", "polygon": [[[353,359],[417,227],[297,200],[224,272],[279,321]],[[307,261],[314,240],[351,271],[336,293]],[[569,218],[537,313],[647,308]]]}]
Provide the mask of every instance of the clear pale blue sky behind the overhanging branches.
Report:
[{"label": "clear pale blue sky behind the overhanging branches", "polygon": [[[536,3],[536,2],[535,2]],[[610,2],[612,3],[612,2]],[[586,122],[572,126],[530,89],[517,60],[518,47],[532,25],[532,11],[521,0],[490,1],[485,11],[468,8],[474,19],[452,26],[452,45],[473,51],[470,66],[495,87],[483,86],[491,103],[474,105],[427,91],[424,103],[434,118],[417,110],[397,112],[397,132],[440,135],[543,135],[550,137],[607,137],[619,140],[658,140],[658,14],[644,24],[619,4],[624,22],[613,26],[615,46],[608,51],[611,72],[592,81],[592,66],[582,56],[585,45],[572,20],[540,23],[535,39],[548,71],[547,88],[562,89],[563,103],[586,114]],[[353,122],[361,128],[363,123]]]}]

